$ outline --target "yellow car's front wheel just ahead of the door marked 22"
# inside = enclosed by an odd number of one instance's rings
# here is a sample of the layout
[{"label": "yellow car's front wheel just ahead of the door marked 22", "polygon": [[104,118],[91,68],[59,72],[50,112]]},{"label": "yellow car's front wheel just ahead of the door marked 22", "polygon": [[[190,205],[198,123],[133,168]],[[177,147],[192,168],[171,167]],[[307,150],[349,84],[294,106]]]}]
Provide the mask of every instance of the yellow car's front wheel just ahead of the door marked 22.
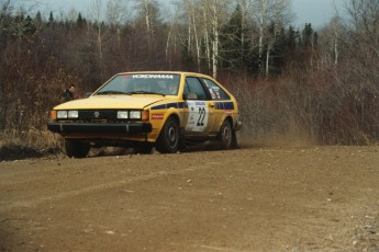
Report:
[{"label": "yellow car's front wheel just ahead of the door marked 22", "polygon": [[156,149],[160,153],[176,153],[180,142],[179,124],[172,116],[169,117],[163,127],[157,139]]}]

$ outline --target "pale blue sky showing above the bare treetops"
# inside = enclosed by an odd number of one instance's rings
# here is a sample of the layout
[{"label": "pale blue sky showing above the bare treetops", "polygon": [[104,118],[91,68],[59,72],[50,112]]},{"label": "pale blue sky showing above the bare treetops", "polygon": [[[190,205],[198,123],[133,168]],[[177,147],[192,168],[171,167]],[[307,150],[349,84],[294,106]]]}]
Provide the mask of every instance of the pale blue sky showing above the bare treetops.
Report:
[{"label": "pale blue sky showing above the bare treetops", "polygon": [[[68,13],[71,9],[80,11],[86,15],[92,0],[40,0],[41,7],[47,12]],[[102,0],[105,2],[107,0]],[[164,5],[169,5],[172,0],[158,0]],[[348,0],[292,0],[292,10],[296,15],[293,25],[302,28],[305,23],[313,27],[322,27],[335,15],[336,11],[342,12],[344,3]],[[43,10],[41,10],[43,12]]]}]

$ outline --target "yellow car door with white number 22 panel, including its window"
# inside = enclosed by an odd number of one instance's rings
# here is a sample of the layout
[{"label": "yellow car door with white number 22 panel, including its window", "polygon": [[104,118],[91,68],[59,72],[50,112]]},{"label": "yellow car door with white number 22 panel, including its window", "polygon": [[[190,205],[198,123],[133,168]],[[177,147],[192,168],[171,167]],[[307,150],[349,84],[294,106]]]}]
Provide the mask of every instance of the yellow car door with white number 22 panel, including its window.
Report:
[{"label": "yellow car door with white number 22 panel, including its window", "polygon": [[186,77],[183,96],[188,108],[187,135],[207,135],[214,127],[214,105],[198,77]]}]

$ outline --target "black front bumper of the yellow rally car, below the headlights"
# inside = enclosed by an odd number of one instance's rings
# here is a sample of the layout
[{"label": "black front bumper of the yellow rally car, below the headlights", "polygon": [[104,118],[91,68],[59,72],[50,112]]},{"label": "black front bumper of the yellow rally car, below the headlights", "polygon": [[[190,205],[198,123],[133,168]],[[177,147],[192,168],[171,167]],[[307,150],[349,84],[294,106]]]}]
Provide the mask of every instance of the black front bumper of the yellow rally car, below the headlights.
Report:
[{"label": "black front bumper of the yellow rally car, below the headlights", "polygon": [[47,129],[59,134],[141,134],[151,133],[151,123],[47,123]]}]

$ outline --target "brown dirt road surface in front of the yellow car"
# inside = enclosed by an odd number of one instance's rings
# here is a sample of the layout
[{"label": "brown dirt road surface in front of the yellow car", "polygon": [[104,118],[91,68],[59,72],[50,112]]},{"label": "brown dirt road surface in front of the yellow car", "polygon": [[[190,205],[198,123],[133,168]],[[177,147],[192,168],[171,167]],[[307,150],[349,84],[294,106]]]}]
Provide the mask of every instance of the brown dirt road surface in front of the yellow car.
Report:
[{"label": "brown dirt road surface in front of the yellow car", "polygon": [[0,163],[0,251],[379,251],[379,147]]}]

